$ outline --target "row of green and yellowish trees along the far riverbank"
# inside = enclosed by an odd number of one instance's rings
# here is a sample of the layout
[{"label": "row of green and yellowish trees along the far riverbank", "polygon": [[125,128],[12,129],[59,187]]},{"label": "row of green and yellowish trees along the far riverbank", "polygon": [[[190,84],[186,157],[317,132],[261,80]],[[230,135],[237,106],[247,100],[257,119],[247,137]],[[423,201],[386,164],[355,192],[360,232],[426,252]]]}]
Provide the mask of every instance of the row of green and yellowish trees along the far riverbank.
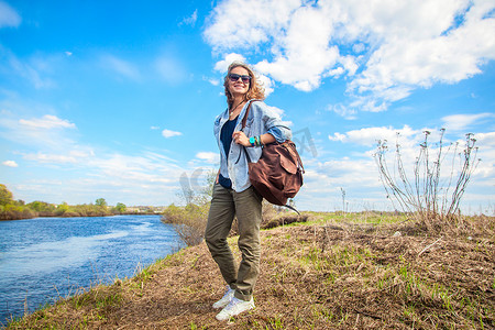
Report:
[{"label": "row of green and yellowish trees along the far riverbank", "polygon": [[6,185],[0,184],[0,220],[32,219],[36,217],[105,217],[127,213],[127,206],[118,202],[109,207],[105,198],[98,198],[95,204],[59,205],[35,200],[25,204],[14,200]]}]

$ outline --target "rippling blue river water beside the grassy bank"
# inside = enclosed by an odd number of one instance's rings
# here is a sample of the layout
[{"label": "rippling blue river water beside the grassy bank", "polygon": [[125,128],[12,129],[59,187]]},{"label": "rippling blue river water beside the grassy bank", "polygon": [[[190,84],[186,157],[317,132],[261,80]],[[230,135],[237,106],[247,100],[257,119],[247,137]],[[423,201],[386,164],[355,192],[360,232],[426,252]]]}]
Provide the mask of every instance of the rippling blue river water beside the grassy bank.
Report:
[{"label": "rippling blue river water beside the grassy bank", "polygon": [[183,248],[160,216],[0,221],[0,327]]}]

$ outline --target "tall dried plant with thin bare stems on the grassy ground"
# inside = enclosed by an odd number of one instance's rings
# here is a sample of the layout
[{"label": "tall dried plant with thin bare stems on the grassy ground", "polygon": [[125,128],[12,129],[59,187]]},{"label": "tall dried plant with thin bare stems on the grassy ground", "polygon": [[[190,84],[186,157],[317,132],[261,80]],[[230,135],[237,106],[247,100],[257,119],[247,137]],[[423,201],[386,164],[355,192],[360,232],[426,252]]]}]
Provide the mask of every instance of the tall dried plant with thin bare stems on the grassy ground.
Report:
[{"label": "tall dried plant with thin bare stems on the grassy ground", "polygon": [[[403,162],[399,144],[399,133],[395,144],[395,161],[393,172],[387,165],[387,141],[378,141],[374,158],[378,167],[380,177],[389,198],[395,206],[413,215],[421,221],[455,220],[460,213],[460,202],[481,160],[476,158],[476,140],[472,133],[465,135],[462,150],[459,142],[443,142],[446,129],[440,130],[440,139],[430,144],[428,138],[431,132],[425,131],[425,139],[419,144],[419,153],[414,162],[414,178],[409,179]],[[441,175],[441,168],[450,161],[450,174]],[[459,166],[459,167],[458,167]]]}]

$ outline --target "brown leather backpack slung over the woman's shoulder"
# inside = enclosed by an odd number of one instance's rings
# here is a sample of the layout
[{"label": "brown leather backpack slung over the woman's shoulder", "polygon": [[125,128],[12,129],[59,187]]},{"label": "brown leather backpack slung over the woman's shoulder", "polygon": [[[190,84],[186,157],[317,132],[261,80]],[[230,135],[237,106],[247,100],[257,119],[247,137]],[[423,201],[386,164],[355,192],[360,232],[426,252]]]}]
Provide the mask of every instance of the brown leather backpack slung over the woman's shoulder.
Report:
[{"label": "brown leather backpack slung over the woman's shoulder", "polygon": [[[245,127],[251,103],[242,120],[242,130]],[[286,206],[297,212],[287,205],[287,199],[295,197],[302,186],[302,174],[305,173],[296,144],[290,140],[266,144],[263,146],[262,156],[257,163],[251,162],[248,152],[246,156],[250,182],[256,191],[271,204]]]}]

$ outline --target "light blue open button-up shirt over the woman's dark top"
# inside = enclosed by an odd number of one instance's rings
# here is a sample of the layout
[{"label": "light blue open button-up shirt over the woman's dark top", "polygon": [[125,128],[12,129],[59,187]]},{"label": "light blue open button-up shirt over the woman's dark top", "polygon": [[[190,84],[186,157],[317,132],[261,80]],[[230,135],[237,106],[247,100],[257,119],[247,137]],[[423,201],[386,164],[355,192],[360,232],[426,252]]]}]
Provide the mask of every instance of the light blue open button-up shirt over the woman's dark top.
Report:
[{"label": "light blue open button-up shirt over the woman's dark top", "polygon": [[[257,136],[265,133],[272,134],[277,142],[284,142],[292,139],[292,132],[286,122],[283,122],[280,117],[262,101],[251,101],[250,113],[245,122],[244,133],[248,138]],[[241,131],[242,121],[245,116],[249,102],[244,105],[239,114],[238,124],[234,132]],[[223,124],[229,120],[229,109],[223,111],[215,120],[215,138],[217,139],[218,147],[220,150],[220,174],[223,177],[230,178],[232,182],[232,189],[238,193],[244,191],[251,186],[248,174],[248,157],[244,150],[249,153],[250,160],[256,163],[262,155],[262,146],[243,147],[232,141],[230,145],[229,157],[226,155],[222,142],[220,141],[220,132]]]}]

